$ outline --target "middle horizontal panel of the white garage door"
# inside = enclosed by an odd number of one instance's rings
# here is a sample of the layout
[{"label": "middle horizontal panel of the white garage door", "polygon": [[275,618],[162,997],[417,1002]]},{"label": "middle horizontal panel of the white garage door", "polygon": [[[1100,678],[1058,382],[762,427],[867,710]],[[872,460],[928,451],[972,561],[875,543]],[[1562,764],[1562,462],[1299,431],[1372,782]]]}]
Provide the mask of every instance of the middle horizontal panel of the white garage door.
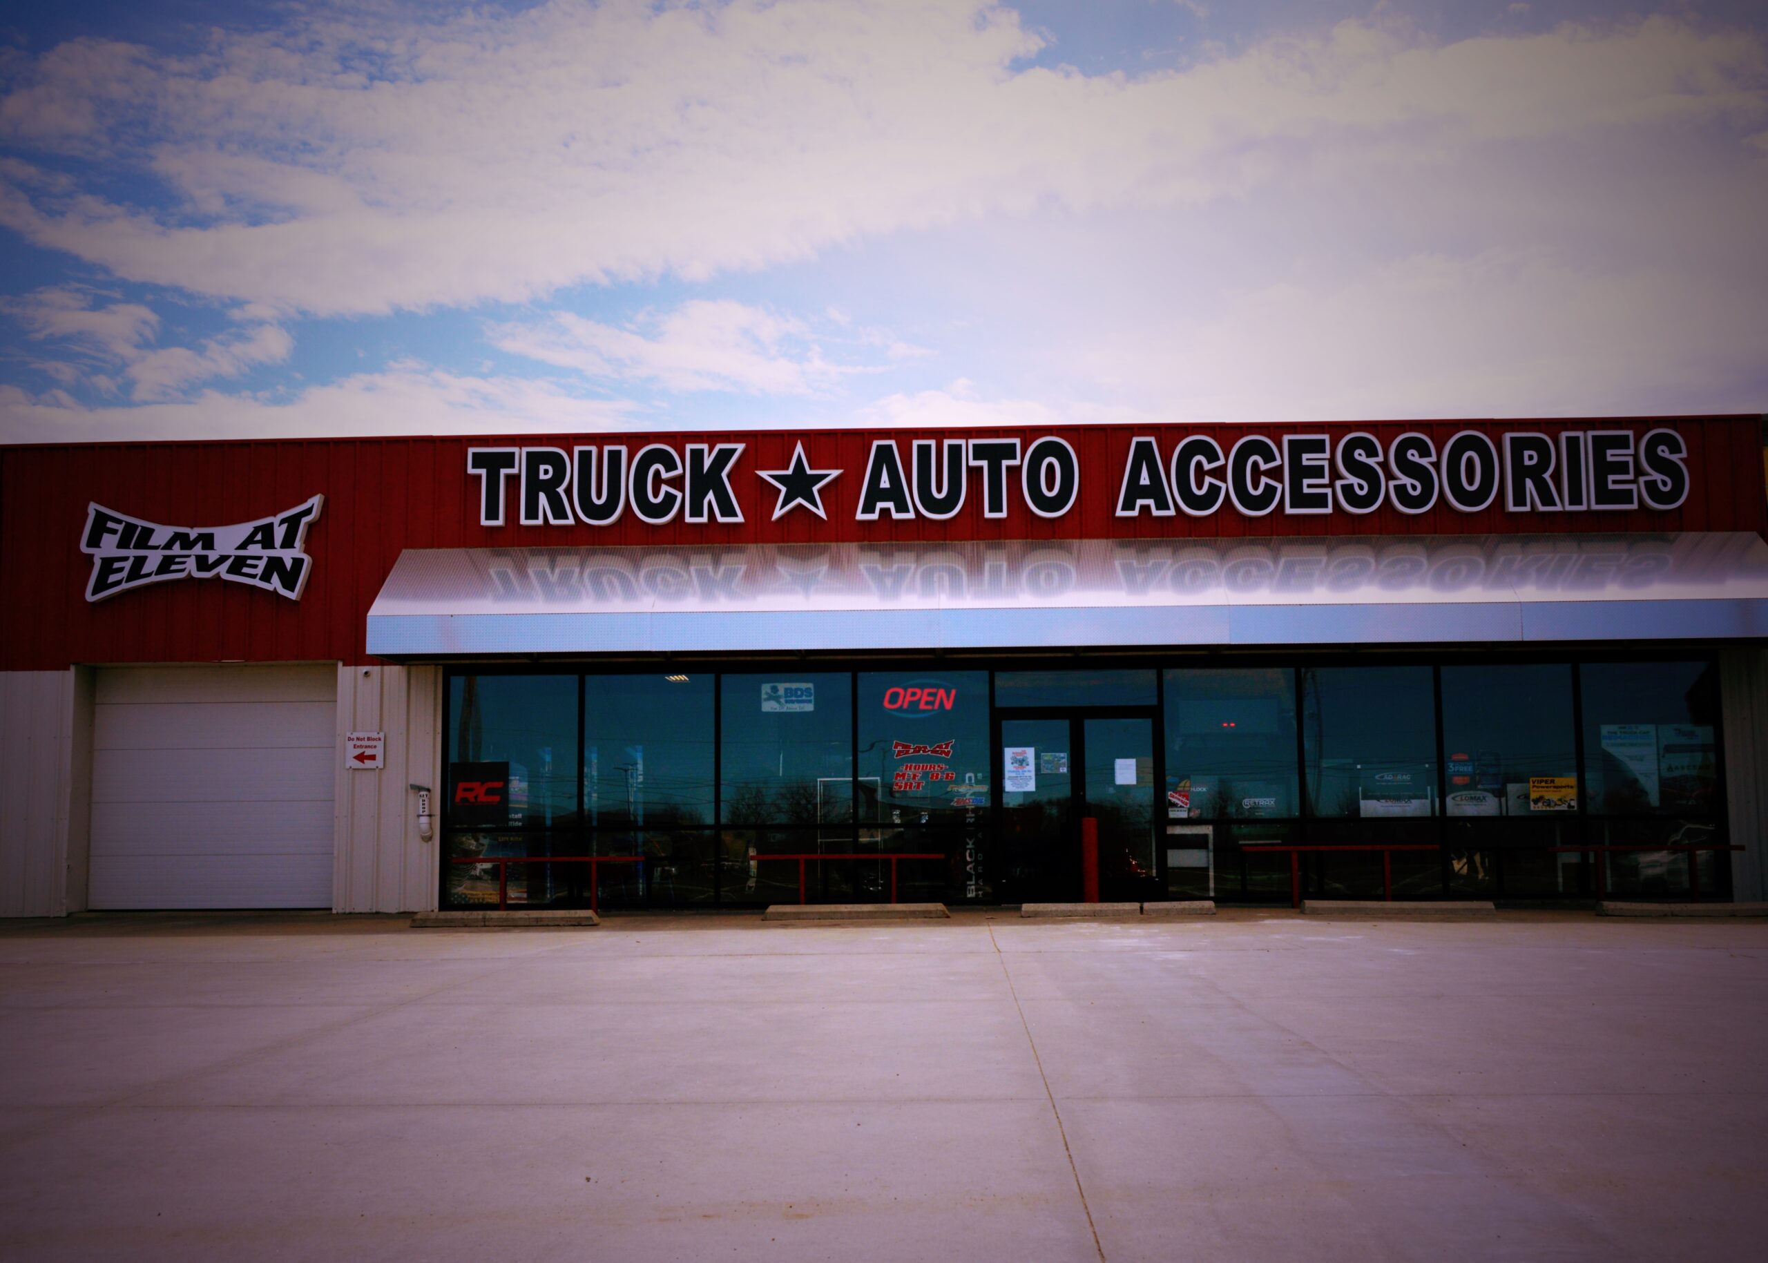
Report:
[{"label": "middle horizontal panel of the white garage door", "polygon": [[110,750],[92,803],[332,801],[332,750]]}]

